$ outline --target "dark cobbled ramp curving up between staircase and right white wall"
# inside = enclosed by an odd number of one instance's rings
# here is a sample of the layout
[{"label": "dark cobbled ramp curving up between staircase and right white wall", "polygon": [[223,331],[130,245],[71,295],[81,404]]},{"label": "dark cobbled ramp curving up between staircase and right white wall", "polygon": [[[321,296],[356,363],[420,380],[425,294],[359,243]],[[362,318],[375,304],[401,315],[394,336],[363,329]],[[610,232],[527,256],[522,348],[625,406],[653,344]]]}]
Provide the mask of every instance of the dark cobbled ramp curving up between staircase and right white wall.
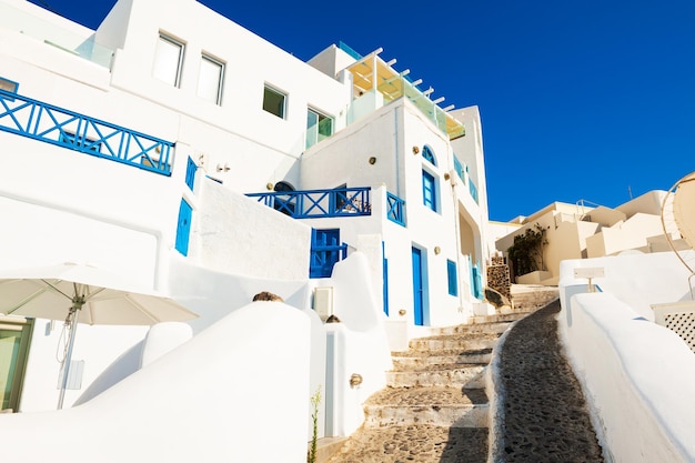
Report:
[{"label": "dark cobbled ramp curving up between staircase and right white wall", "polygon": [[558,312],[555,301],[520,320],[502,344],[495,462],[604,461],[581,386],[561,351]]}]

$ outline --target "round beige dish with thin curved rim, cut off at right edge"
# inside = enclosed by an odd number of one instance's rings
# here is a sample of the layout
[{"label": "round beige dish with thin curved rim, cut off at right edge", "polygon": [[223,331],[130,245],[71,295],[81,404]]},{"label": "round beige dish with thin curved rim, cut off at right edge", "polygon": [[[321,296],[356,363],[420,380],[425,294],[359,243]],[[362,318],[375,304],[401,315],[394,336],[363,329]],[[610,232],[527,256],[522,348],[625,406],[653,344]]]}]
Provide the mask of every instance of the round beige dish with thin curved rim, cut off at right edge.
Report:
[{"label": "round beige dish with thin curved rim, cut off at right edge", "polygon": [[[662,227],[672,251],[691,272],[689,283],[695,276],[695,261],[692,255],[689,259],[684,255],[684,246],[677,245],[674,236],[682,236],[689,250],[695,250],[695,172],[678,180],[666,193],[662,203]],[[693,298],[693,285],[689,286]]]}]

